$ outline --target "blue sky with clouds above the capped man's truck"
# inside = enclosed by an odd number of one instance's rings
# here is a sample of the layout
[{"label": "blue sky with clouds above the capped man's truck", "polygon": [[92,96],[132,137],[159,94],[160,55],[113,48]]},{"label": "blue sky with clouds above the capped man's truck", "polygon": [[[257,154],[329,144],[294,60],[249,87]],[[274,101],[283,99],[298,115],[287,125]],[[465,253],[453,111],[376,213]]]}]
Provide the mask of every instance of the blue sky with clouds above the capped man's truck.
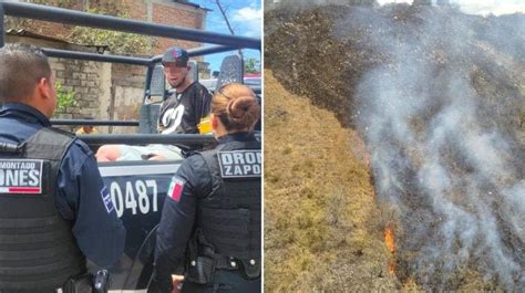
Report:
[{"label": "blue sky with clouds above the capped man's truck", "polygon": [[[191,0],[191,2],[213,10],[209,11],[206,17],[206,30],[230,34],[215,0]],[[261,0],[220,0],[220,3],[223,8],[227,9],[226,13],[235,34],[261,39]],[[261,52],[257,50],[244,50],[243,52],[245,60],[248,57],[255,57],[260,62]],[[205,56],[205,61],[210,63],[209,69],[212,71],[218,71],[223,59],[231,53],[236,53],[236,51],[212,54]]]}]

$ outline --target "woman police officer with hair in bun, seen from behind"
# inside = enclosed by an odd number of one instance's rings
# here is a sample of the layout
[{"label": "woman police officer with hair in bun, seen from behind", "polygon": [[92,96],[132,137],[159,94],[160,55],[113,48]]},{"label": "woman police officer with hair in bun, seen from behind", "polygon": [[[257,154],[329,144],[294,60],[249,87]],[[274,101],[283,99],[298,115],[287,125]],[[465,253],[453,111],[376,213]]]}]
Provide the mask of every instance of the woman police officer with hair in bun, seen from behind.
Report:
[{"label": "woman police officer with hair in bun, seen from behind", "polygon": [[148,292],[260,292],[260,143],[254,92],[241,84],[212,100],[217,145],[181,165],[172,179],[157,230]]}]

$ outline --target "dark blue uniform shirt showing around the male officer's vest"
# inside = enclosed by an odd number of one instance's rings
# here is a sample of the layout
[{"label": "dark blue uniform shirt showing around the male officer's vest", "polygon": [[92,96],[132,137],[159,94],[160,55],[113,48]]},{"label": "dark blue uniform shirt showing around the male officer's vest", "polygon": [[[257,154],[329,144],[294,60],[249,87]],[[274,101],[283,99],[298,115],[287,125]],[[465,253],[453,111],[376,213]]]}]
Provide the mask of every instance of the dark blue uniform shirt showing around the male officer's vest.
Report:
[{"label": "dark blue uniform shirt showing around the male officer's vest", "polygon": [[[19,144],[49,126],[48,117],[33,107],[12,103],[0,108],[1,143]],[[115,210],[104,203],[107,189],[93,153],[79,139],[60,164],[56,190],[56,209],[73,222],[72,232],[82,253],[100,266],[115,263],[124,251],[125,229]]]}]

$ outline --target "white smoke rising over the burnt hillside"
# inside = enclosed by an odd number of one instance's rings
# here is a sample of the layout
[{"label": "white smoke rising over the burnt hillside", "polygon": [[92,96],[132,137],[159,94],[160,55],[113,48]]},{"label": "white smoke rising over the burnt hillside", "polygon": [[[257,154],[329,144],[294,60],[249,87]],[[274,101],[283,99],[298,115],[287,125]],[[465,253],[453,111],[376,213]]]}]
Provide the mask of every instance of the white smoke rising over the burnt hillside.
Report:
[{"label": "white smoke rising over the burnt hillside", "polygon": [[404,249],[415,253],[409,265],[418,282],[446,289],[471,268],[506,290],[525,290],[523,148],[490,102],[513,101],[480,96],[466,66],[488,64],[494,76],[504,70],[480,60],[487,55],[469,43],[475,31],[469,22],[423,11],[409,32],[404,22],[366,11],[356,10],[338,33],[369,23],[389,28],[363,36],[390,61],[358,87],[358,128],[371,149],[378,197],[395,208]]}]

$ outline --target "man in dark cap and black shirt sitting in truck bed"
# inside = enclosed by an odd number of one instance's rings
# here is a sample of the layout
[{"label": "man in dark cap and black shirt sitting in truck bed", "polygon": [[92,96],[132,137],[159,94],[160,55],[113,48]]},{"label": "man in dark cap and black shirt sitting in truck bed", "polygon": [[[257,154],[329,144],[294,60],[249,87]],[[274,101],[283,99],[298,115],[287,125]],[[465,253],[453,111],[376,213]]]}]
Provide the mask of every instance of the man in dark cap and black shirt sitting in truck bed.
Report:
[{"label": "man in dark cap and black shirt sitting in truck bed", "polygon": [[[164,52],[164,74],[175,92],[161,106],[158,132],[161,134],[198,134],[197,124],[209,114],[212,94],[189,76],[188,53],[172,46]],[[126,146],[105,145],[99,148],[96,159],[141,160],[181,159],[181,149],[168,145]]]}]

